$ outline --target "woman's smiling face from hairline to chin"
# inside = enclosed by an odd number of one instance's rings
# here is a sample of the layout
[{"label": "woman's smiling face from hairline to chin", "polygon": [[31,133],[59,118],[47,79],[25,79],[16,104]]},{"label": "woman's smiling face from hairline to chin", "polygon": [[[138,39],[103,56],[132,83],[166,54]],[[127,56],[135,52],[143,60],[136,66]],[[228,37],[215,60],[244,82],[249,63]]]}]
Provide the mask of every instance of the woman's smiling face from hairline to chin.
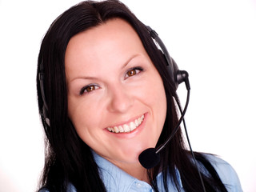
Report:
[{"label": "woman's smiling face from hairline to chin", "polygon": [[112,19],[70,39],[68,113],[80,138],[115,165],[138,163],[166,118],[162,79],[138,34]]}]

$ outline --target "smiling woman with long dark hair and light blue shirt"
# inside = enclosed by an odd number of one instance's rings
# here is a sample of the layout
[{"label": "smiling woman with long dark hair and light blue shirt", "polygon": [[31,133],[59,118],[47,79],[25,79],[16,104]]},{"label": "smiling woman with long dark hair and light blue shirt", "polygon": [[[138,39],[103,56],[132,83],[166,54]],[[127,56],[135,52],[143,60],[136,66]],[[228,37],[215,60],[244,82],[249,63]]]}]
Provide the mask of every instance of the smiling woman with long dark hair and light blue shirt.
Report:
[{"label": "smiling woman with long dark hair and light blue shirt", "polygon": [[81,2],[60,15],[38,56],[41,191],[242,191],[213,155],[195,153],[199,175],[181,130],[157,166],[138,162],[178,123],[171,79],[146,26],[121,2]]}]

